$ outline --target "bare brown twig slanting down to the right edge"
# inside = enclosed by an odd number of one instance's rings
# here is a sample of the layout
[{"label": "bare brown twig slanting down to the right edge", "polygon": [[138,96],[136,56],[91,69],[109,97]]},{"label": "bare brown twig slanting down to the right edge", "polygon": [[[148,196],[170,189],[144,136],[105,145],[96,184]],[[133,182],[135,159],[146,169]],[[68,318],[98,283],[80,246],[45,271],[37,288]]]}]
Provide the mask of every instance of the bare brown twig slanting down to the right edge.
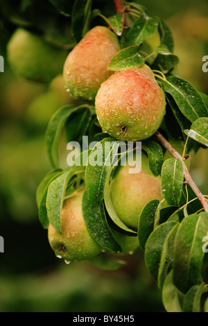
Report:
[{"label": "bare brown twig slanting down to the right edge", "polygon": [[177,153],[177,151],[175,151],[175,148],[173,148],[173,146],[171,146],[171,144],[168,143],[168,141],[163,137],[163,135],[159,131],[155,132],[155,137],[157,138],[159,143],[162,144],[162,146],[164,146],[164,148],[166,148],[166,150],[169,153],[171,153],[173,157],[175,157],[175,159],[180,158],[180,160],[182,160],[182,164],[184,167],[184,178],[186,179],[187,184],[191,187],[191,189],[194,191],[194,193],[200,200],[200,203],[202,204],[202,207],[205,209],[205,212],[208,212],[208,201],[205,198],[205,196],[202,195],[201,191],[198,189],[196,184],[193,182],[193,179],[191,178],[189,170],[187,169],[187,166],[185,164],[185,158],[182,157],[179,153]]}]

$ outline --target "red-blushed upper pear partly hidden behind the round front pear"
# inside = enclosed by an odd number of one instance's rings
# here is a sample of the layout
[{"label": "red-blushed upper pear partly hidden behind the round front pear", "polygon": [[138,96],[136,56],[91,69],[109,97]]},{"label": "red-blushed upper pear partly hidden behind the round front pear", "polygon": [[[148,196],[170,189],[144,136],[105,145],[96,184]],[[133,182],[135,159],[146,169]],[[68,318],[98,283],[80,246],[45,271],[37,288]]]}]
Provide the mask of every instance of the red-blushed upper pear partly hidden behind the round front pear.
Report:
[{"label": "red-blushed upper pear partly hidden behind the round front pear", "polygon": [[92,28],[64,63],[64,83],[71,96],[94,101],[101,83],[113,73],[107,65],[119,50],[116,34],[105,26]]}]

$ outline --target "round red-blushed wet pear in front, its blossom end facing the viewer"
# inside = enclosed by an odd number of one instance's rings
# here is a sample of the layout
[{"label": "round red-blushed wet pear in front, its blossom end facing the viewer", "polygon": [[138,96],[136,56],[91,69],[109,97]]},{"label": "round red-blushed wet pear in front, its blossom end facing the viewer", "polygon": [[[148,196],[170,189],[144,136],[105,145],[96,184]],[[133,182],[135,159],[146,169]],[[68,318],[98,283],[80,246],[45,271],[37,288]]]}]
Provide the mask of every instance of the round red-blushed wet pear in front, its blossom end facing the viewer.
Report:
[{"label": "round red-blushed wet pear in front, its blossom end facing the viewer", "polygon": [[103,132],[123,141],[152,136],[162,123],[166,101],[153,71],[118,71],[108,78],[96,95],[96,115]]}]

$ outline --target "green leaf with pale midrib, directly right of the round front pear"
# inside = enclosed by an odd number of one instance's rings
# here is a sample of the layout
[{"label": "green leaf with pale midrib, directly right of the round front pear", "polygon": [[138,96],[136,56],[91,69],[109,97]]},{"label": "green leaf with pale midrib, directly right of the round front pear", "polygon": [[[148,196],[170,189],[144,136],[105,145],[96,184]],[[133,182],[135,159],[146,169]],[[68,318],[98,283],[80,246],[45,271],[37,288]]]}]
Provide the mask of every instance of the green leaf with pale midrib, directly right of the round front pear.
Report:
[{"label": "green leaf with pale midrib, directly right of the round front pear", "polygon": [[162,81],[162,88],[173,96],[182,114],[192,123],[200,117],[207,117],[205,102],[187,80],[170,76]]}]

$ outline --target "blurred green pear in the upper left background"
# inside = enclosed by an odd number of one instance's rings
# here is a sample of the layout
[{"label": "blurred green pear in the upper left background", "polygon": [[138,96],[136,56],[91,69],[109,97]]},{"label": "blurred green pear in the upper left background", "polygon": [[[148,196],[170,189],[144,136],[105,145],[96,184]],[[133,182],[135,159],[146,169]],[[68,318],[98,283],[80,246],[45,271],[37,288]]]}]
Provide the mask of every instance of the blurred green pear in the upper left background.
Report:
[{"label": "blurred green pear in the upper left background", "polygon": [[28,80],[50,83],[62,73],[67,51],[44,42],[42,37],[17,28],[7,46],[12,71]]}]

